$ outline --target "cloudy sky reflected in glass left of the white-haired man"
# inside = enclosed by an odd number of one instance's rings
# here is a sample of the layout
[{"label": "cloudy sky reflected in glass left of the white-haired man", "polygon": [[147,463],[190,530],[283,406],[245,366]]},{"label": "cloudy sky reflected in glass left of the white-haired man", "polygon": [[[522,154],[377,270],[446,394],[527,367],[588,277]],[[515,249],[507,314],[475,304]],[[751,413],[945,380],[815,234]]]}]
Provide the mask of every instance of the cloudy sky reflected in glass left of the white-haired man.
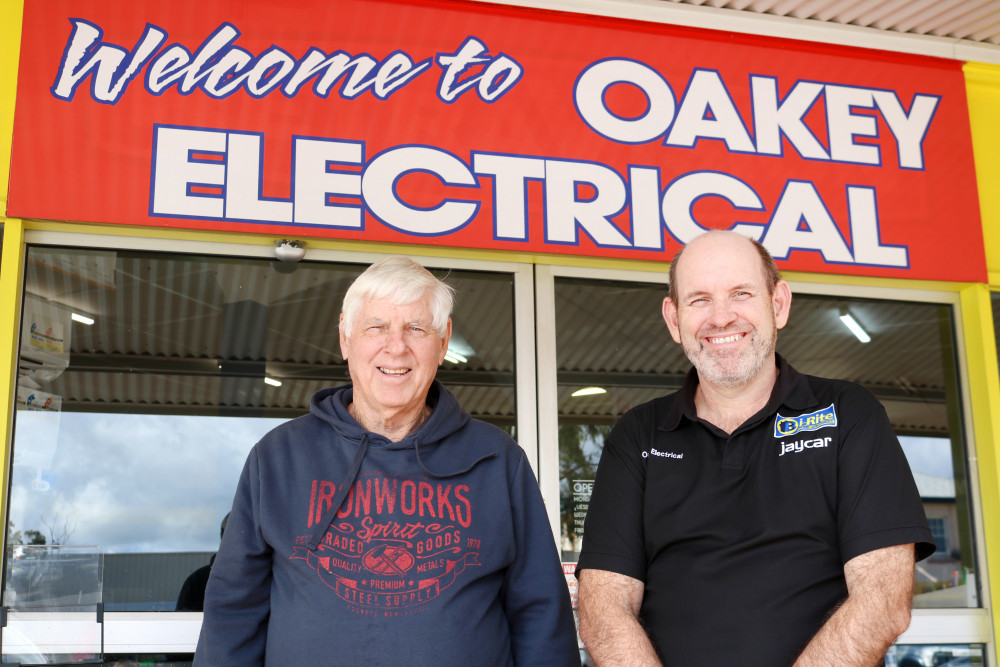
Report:
[{"label": "cloudy sky reflected in glass left of the white-haired man", "polygon": [[283,421],[18,411],[13,529],[104,553],[215,551],[247,454]]}]

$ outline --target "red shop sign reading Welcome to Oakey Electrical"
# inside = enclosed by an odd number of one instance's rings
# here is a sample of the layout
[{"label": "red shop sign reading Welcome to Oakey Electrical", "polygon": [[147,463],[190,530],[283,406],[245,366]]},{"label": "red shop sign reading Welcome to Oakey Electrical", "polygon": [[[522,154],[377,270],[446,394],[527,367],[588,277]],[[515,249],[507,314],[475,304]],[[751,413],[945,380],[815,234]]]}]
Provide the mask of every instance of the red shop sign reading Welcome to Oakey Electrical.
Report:
[{"label": "red shop sign reading Welcome to Oakey Electrical", "polygon": [[986,277],[958,63],[473,2],[25,0],[8,214]]}]

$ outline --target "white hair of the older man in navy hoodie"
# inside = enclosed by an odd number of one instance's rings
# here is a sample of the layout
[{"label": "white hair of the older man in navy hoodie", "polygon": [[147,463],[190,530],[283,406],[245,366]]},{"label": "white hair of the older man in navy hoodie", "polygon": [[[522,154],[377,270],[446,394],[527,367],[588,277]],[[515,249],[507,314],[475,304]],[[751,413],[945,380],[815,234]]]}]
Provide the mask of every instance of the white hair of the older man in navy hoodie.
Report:
[{"label": "white hair of the older man in navy hoodie", "polygon": [[394,255],[381,259],[354,279],[344,295],[340,329],[350,338],[354,319],[366,301],[385,300],[397,306],[419,301],[427,294],[431,307],[431,326],[444,336],[454,304],[455,288],[439,280],[419,263]]}]

